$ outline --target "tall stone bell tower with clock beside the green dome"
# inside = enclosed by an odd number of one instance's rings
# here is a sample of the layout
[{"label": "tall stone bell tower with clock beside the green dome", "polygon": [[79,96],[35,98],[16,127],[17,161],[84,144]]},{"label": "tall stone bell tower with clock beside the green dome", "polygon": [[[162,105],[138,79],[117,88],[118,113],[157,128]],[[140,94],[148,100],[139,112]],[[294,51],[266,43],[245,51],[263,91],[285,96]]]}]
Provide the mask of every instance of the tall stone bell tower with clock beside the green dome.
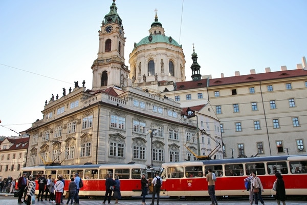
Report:
[{"label": "tall stone bell tower with clock beside the green dome", "polygon": [[126,87],[129,75],[125,66],[125,42],[122,19],[117,13],[117,6],[113,0],[110,11],[104,16],[99,33],[98,57],[92,65],[92,90],[109,87]]}]

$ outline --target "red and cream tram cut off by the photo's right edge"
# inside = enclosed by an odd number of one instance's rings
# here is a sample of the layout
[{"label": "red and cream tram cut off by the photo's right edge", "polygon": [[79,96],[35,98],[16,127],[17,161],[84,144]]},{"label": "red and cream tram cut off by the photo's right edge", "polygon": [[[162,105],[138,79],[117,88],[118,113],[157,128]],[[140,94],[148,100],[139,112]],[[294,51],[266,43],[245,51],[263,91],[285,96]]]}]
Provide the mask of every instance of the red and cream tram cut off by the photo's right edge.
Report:
[{"label": "red and cream tram cut off by the photo's right edge", "polygon": [[244,179],[252,171],[261,180],[263,195],[275,194],[276,171],[283,176],[287,195],[307,193],[307,155],[296,155],[163,163],[160,196],[209,196],[205,177],[209,168],[216,175],[216,196],[249,196]]}]

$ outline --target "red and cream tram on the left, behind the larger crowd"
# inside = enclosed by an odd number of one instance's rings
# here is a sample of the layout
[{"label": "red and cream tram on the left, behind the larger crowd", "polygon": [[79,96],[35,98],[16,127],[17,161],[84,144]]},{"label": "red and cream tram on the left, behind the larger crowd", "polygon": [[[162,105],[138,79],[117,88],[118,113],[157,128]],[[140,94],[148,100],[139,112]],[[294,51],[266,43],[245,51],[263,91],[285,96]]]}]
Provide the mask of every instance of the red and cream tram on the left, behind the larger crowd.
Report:
[{"label": "red and cream tram on the left, behind the larger crowd", "polygon": [[[105,194],[105,179],[108,174],[113,177],[118,175],[121,181],[122,196],[141,196],[140,179],[142,174],[147,177],[147,167],[139,164],[109,164],[109,165],[68,165],[68,166],[37,166],[25,167],[21,173],[36,176],[36,179],[45,174],[52,175],[57,179],[58,175],[62,175],[65,180],[64,194],[68,190],[71,177],[75,173],[83,181],[83,187],[80,189],[79,196],[104,196]],[[35,194],[38,194],[38,186],[36,186]]]}]

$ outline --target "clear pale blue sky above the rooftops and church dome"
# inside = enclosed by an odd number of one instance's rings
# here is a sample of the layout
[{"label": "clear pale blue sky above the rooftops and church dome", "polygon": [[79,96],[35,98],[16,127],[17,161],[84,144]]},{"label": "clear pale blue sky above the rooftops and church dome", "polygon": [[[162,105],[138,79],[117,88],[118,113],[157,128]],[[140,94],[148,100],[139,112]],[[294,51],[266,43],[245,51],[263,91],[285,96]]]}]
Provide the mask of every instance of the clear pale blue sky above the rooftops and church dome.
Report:
[{"label": "clear pale blue sky above the rooftops and church dome", "polygon": [[[111,4],[0,1],[0,136],[30,128],[42,118],[45,100],[62,96],[62,88],[68,92],[74,81],[85,80],[85,87],[92,88],[97,31]],[[116,5],[127,38],[126,65],[134,43],[149,35],[156,8],[166,35],[183,47],[187,80],[193,43],[201,74],[213,78],[235,71],[245,75],[250,69],[262,73],[266,67],[296,69],[307,56],[305,0],[117,0]]]}]

